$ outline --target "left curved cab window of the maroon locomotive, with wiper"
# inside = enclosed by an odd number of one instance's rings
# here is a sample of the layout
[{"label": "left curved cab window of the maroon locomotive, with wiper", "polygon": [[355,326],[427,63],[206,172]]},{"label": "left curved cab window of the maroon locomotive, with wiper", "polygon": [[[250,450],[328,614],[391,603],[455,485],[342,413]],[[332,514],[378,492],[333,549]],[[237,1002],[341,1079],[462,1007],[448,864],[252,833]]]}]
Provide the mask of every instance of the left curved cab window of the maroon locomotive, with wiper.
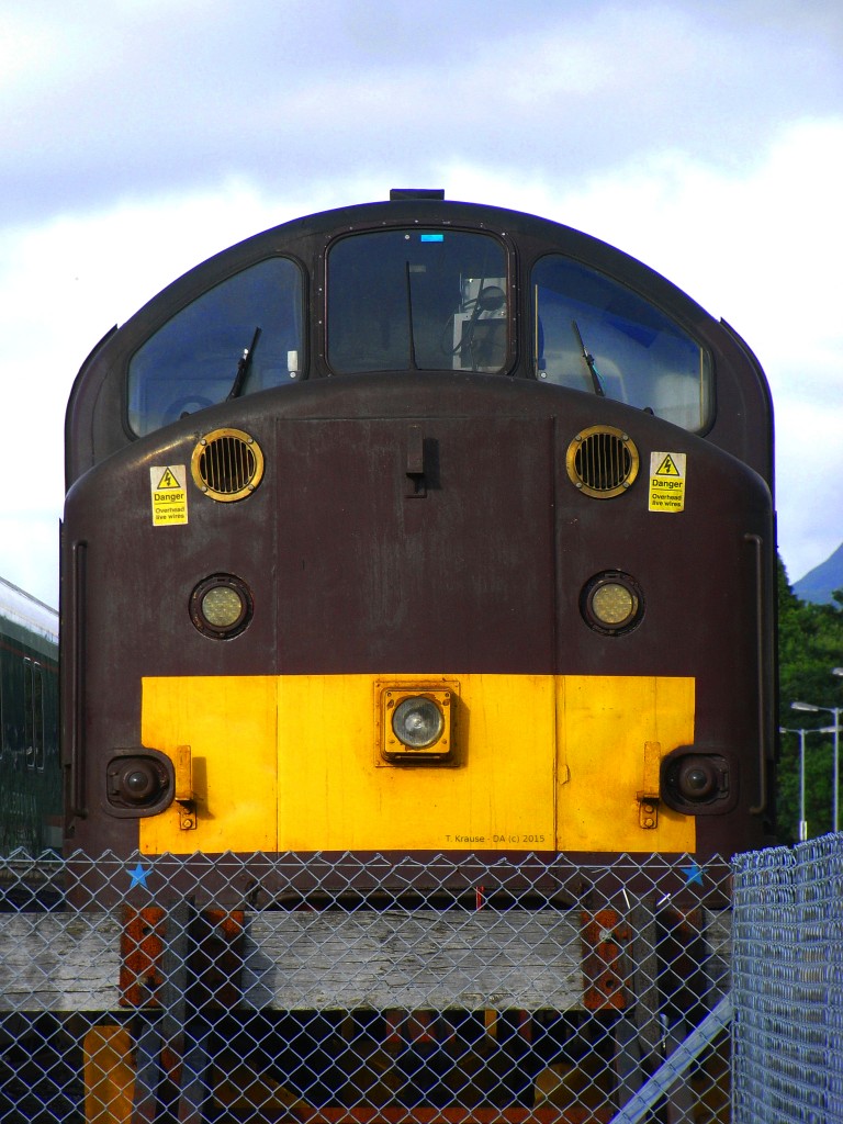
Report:
[{"label": "left curved cab window of the maroon locomotive, with wiper", "polygon": [[292,383],[303,365],[302,281],[271,257],[202,293],[135,352],[129,426],[138,436],[229,395]]}]

